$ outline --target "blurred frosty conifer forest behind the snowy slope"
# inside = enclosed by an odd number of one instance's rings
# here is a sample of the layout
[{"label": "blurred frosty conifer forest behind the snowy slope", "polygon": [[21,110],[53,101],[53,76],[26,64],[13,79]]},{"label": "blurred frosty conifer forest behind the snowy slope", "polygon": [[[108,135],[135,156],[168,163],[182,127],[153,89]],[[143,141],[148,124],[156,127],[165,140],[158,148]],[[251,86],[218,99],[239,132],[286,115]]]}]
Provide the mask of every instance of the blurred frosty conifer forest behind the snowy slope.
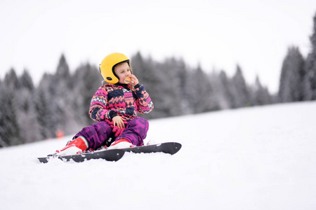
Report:
[{"label": "blurred frosty conifer forest behind the snowy slope", "polygon": [[[240,66],[230,77],[225,71],[205,73],[183,59],[170,57],[157,62],[136,52],[131,57],[133,73],[154,102],[154,111],[142,117],[166,118],[315,100],[316,15],[313,23],[308,56],[303,57],[296,46],[289,47],[277,94],[270,94],[258,77],[255,84],[246,83]],[[58,130],[74,134],[91,125],[88,109],[102,80],[98,66],[92,64],[81,64],[70,71],[64,55],[55,73],[45,73],[39,85],[34,85],[27,70],[18,76],[11,69],[0,79],[0,148],[55,138]]]}]

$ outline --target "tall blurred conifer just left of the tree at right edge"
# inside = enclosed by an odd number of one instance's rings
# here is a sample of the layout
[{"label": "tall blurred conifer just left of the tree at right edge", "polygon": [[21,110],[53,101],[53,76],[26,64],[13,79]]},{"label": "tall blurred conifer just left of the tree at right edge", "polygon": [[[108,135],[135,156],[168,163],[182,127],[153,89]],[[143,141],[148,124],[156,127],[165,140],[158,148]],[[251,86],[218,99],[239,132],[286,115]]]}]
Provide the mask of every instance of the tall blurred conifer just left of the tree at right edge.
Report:
[{"label": "tall blurred conifer just left of the tree at right edge", "polygon": [[303,100],[304,59],[297,47],[288,49],[279,81],[279,102]]}]

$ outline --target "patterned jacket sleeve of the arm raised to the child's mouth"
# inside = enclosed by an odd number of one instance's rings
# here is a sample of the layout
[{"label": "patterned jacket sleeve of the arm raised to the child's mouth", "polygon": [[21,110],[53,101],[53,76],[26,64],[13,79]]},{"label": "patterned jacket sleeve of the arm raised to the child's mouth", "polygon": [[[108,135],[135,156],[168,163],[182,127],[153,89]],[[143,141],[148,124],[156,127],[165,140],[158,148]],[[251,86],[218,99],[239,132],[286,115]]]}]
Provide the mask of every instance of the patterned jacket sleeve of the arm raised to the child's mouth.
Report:
[{"label": "patterned jacket sleeve of the arm raised to the child's mouth", "polygon": [[150,111],[154,109],[154,104],[152,103],[149,94],[146,92],[144,85],[136,86],[135,94],[137,111],[143,114],[150,113]]}]

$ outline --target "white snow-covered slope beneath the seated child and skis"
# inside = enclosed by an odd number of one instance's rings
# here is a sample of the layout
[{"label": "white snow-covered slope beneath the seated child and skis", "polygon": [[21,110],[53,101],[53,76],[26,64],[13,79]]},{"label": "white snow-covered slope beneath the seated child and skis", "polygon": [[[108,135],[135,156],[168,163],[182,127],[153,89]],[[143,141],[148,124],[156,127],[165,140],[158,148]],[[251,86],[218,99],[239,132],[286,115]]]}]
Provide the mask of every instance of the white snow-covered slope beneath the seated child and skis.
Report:
[{"label": "white snow-covered slope beneath the seated child and skis", "polygon": [[72,137],[0,149],[1,209],[316,209],[316,102],[150,120],[175,155],[39,163]]}]

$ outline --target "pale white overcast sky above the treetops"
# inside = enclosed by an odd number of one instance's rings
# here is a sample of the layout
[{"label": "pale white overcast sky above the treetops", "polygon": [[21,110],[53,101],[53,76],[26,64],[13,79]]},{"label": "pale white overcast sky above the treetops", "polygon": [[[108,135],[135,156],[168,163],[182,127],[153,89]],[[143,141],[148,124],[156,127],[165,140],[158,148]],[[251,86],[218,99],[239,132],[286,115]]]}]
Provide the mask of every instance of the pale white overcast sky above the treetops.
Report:
[{"label": "pale white overcast sky above the treetops", "polygon": [[275,92],[287,48],[310,51],[315,13],[315,0],[0,0],[0,78],[13,67],[38,83],[62,53],[74,71],[140,51],[229,76],[239,64],[248,83],[258,75]]}]

